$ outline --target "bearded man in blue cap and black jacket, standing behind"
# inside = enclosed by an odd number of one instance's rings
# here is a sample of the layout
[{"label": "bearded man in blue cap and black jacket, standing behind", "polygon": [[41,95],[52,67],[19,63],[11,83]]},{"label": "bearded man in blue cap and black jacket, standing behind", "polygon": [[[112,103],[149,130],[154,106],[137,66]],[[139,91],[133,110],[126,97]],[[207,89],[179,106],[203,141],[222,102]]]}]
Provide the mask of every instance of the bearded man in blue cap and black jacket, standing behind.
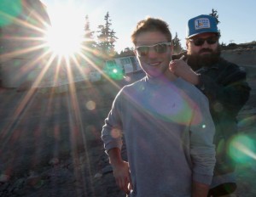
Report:
[{"label": "bearded man in blue cap and black jacket, standing behind", "polygon": [[172,55],[169,69],[194,84],[210,104],[216,132],[216,165],[208,196],[230,196],[236,190],[236,162],[229,154],[237,134],[236,116],[246,104],[251,88],[240,66],[221,57],[216,18],[199,15],[188,22],[187,51]]}]

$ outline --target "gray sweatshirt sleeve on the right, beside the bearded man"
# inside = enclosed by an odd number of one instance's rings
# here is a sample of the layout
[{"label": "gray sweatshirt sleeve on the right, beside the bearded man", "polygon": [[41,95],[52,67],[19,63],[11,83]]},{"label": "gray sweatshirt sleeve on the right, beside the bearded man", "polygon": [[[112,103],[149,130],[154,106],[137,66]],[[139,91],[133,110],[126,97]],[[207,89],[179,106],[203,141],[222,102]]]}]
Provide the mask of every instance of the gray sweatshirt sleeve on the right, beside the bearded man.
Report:
[{"label": "gray sweatshirt sleeve on the right, beside the bearded man", "polygon": [[[202,94],[203,95],[203,94]],[[190,127],[190,155],[193,163],[193,180],[210,184],[215,165],[214,123],[207,98],[203,95],[197,101]]]}]

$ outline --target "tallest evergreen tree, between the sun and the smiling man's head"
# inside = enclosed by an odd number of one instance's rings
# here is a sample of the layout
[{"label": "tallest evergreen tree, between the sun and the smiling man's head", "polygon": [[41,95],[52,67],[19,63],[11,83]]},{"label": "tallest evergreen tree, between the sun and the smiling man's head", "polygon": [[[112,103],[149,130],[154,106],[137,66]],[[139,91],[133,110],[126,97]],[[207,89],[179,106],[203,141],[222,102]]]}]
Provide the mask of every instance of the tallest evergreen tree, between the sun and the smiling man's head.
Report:
[{"label": "tallest evergreen tree, between the sun and the smiling man's head", "polygon": [[105,15],[104,20],[105,25],[98,25],[98,49],[102,52],[102,55],[109,58],[116,53],[114,50],[114,42],[116,42],[118,37],[115,37],[115,31],[111,29],[112,24],[108,13]]}]

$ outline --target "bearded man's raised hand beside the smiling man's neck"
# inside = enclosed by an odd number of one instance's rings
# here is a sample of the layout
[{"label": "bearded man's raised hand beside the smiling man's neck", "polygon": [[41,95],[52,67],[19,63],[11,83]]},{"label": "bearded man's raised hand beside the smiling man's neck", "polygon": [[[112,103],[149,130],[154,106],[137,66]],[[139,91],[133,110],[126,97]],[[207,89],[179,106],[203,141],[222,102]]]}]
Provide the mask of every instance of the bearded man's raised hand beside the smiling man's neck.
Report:
[{"label": "bearded man's raised hand beside the smiling man's neck", "polygon": [[182,56],[180,59],[174,59],[170,62],[169,69],[175,76],[182,77],[183,80],[190,82],[194,85],[199,84],[199,77],[186,62],[183,61]]}]

